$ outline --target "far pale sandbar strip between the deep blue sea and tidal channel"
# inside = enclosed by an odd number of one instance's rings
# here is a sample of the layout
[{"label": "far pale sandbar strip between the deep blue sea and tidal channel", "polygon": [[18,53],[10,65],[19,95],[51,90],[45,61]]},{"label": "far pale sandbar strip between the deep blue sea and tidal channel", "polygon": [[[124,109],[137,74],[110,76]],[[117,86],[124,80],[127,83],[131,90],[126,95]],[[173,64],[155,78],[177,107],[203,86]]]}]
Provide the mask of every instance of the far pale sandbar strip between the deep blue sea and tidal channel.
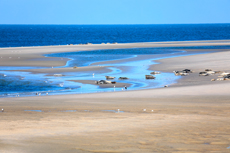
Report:
[{"label": "far pale sandbar strip between the deep blue sea and tidal channel", "polygon": [[[41,47],[18,47],[0,48],[1,66],[37,66],[52,67],[64,66],[68,59],[58,57],[44,57],[45,54],[102,50],[102,49],[125,49],[125,48],[155,48],[155,47],[186,47],[186,46],[225,46],[230,40],[213,41],[182,41],[182,42],[147,42],[147,43],[124,43],[124,44],[92,44],[92,45],[69,45],[69,46],[41,46]],[[11,51],[11,53],[10,53]],[[190,50],[193,51],[193,50]],[[14,53],[14,54],[12,54]],[[30,56],[28,56],[30,54]],[[12,60],[14,62],[12,63]],[[23,61],[27,61],[27,63]],[[43,61],[46,61],[45,63]]]}]

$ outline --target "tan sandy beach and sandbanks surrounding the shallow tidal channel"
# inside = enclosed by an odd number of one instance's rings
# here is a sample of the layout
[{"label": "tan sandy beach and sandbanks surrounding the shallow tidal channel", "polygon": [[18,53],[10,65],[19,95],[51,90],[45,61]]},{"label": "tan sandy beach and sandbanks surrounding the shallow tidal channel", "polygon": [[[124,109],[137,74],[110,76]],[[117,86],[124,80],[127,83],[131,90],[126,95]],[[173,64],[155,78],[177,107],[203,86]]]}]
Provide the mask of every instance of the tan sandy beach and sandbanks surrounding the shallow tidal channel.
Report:
[{"label": "tan sandy beach and sandbanks surrounding the shallow tidal channel", "polygon": [[[100,63],[78,69],[55,68],[69,59],[43,54],[227,45],[230,40],[0,48],[0,66],[44,67],[25,71],[47,75],[69,71],[100,73],[108,71],[95,66]],[[167,88],[0,98],[0,108],[4,108],[0,112],[0,152],[230,152],[230,81],[211,81],[218,74],[199,76],[207,68],[230,72],[230,50],[186,51],[187,56],[160,59],[149,67],[170,73],[186,68],[194,71],[178,76],[177,82]],[[202,54],[189,55],[193,53]],[[87,80],[83,83],[93,84]]]}]

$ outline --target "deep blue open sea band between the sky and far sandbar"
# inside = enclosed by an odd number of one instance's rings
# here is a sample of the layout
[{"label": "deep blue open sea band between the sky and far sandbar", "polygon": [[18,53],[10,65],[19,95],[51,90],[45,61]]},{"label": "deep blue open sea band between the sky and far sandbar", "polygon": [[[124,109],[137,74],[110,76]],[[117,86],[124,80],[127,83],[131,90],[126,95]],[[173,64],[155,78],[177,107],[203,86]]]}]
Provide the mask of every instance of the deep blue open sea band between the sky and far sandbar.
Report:
[{"label": "deep blue open sea band between the sky and far sandbar", "polygon": [[230,24],[0,25],[0,47],[230,39]]}]

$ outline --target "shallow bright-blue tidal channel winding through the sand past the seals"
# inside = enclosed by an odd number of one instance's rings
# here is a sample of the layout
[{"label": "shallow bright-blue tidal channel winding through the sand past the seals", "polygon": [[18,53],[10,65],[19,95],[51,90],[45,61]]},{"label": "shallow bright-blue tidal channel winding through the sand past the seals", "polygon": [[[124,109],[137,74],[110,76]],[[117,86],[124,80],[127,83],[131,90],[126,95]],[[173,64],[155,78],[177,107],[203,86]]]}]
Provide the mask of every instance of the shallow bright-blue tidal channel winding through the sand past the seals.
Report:
[{"label": "shallow bright-blue tidal channel winding through the sand past the seals", "polygon": [[[132,50],[132,49],[131,49]],[[135,49],[137,50],[137,49]],[[149,49],[148,49],[149,51]],[[119,50],[120,52],[120,50]],[[131,52],[129,50],[129,52]],[[154,50],[155,54],[158,52]],[[162,51],[160,52],[162,53]],[[142,56],[140,54],[132,55],[125,54],[124,56],[119,55],[115,56],[112,59],[112,54],[109,58],[103,57],[101,52],[100,54],[89,55],[88,57],[94,57],[94,60],[88,61],[80,60],[81,65],[91,65],[96,62],[103,61],[114,61],[121,60],[120,62],[115,63],[107,63],[100,64],[100,67],[106,67],[109,69],[109,72],[97,73],[93,71],[84,71],[84,72],[64,72],[63,76],[57,77],[53,75],[47,74],[33,74],[29,72],[22,71],[9,71],[15,70],[15,67],[2,67],[0,72],[0,97],[18,97],[18,96],[34,96],[34,95],[55,95],[55,94],[81,94],[81,93],[95,93],[95,92],[115,92],[115,91],[125,91],[124,87],[111,87],[111,88],[101,88],[98,85],[92,84],[83,84],[78,82],[72,82],[69,80],[105,80],[105,76],[113,76],[116,77],[113,81],[118,83],[128,83],[130,86],[128,90],[140,90],[140,89],[149,89],[149,88],[160,88],[164,87],[164,85],[170,85],[176,83],[176,80],[180,77],[175,76],[173,73],[161,73],[156,76],[156,79],[145,79],[145,75],[149,75],[150,70],[148,70],[149,66],[152,64],[157,64],[154,62],[156,59],[170,58],[174,56],[185,56],[181,54],[181,51],[169,51],[157,58],[144,58],[139,60],[124,60],[124,59],[132,59],[137,58],[137,56]],[[143,53],[146,55],[145,53]],[[150,53],[149,53],[150,54]],[[159,55],[159,54],[157,54]],[[48,56],[48,55],[47,55]],[[55,56],[55,55],[52,55]],[[61,55],[56,55],[61,56]],[[83,55],[81,55],[83,56]],[[106,56],[106,55],[103,55]],[[77,65],[79,63],[79,58],[75,58],[76,55],[71,56],[68,54],[68,58],[72,60],[66,64],[64,67],[71,67],[73,65]],[[138,59],[138,58],[137,58]],[[20,67],[23,69],[34,69],[34,67]],[[59,67],[60,68],[60,67]],[[17,68],[18,70],[18,68]],[[94,75],[93,75],[94,74]],[[119,80],[119,77],[128,77],[127,80]]]}]

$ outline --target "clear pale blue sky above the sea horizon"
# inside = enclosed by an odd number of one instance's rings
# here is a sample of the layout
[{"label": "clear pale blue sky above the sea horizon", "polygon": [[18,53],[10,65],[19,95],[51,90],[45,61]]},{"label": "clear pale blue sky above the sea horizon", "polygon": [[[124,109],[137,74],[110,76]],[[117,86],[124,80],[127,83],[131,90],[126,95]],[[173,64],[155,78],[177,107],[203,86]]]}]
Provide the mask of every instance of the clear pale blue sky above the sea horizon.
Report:
[{"label": "clear pale blue sky above the sea horizon", "polygon": [[230,0],[0,0],[0,24],[230,23]]}]

